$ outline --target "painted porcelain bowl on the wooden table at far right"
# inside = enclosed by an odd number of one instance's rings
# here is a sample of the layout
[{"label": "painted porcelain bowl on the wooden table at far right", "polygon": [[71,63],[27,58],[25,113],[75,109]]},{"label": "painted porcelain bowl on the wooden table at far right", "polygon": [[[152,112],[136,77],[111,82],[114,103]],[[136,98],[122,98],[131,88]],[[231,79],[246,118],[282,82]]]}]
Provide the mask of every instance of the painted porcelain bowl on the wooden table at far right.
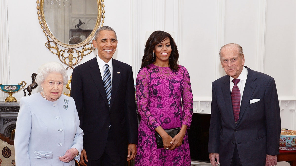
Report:
[{"label": "painted porcelain bowl on the wooden table at far right", "polygon": [[296,150],[296,130],[281,130],[279,149]]}]

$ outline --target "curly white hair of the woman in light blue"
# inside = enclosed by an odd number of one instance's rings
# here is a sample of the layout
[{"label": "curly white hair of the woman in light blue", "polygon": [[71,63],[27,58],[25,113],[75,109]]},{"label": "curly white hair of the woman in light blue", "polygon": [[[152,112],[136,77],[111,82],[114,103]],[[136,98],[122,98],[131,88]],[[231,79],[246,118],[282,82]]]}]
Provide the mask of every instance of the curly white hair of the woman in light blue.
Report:
[{"label": "curly white hair of the woman in light blue", "polygon": [[64,85],[67,84],[67,82],[68,82],[67,71],[64,68],[64,66],[58,62],[47,62],[47,63],[41,65],[37,71],[37,76],[35,79],[36,83],[38,85],[41,85],[41,83],[44,82],[44,80],[46,79],[48,74],[52,73],[52,72],[57,72],[59,74],[62,74],[63,84]]}]

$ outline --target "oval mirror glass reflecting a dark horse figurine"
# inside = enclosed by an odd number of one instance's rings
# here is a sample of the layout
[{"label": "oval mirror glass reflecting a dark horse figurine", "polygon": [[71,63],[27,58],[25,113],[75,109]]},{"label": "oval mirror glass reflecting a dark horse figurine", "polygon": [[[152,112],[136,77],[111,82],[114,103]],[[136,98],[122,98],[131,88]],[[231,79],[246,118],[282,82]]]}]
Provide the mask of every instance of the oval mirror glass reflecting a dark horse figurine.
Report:
[{"label": "oval mirror glass reflecting a dark horse figurine", "polygon": [[100,0],[41,0],[41,20],[52,40],[65,48],[88,43],[99,27]]}]

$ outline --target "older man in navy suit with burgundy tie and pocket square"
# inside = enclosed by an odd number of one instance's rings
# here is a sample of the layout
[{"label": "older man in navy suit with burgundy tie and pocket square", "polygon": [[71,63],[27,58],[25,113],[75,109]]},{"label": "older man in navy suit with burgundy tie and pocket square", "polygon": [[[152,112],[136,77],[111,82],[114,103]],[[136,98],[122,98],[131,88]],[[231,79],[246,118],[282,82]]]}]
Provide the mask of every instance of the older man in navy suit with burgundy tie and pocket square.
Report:
[{"label": "older man in navy suit with burgundy tie and pocket square", "polygon": [[224,45],[219,56],[227,75],[212,84],[211,164],[276,165],[281,119],[274,78],[244,66],[238,44]]}]

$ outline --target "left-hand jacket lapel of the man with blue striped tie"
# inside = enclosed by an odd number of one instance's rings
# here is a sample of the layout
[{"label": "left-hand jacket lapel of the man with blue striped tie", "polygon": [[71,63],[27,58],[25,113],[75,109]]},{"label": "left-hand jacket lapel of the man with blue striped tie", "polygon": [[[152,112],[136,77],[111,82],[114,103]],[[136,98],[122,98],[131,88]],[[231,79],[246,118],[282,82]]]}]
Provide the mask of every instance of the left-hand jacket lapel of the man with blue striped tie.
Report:
[{"label": "left-hand jacket lapel of the man with blue striped tie", "polygon": [[90,71],[91,78],[93,79],[96,88],[99,90],[104,102],[108,105],[107,96],[105,92],[104,83],[101,76],[101,71],[99,69],[98,62],[96,60],[96,57],[92,59],[90,66],[92,70]]}]

